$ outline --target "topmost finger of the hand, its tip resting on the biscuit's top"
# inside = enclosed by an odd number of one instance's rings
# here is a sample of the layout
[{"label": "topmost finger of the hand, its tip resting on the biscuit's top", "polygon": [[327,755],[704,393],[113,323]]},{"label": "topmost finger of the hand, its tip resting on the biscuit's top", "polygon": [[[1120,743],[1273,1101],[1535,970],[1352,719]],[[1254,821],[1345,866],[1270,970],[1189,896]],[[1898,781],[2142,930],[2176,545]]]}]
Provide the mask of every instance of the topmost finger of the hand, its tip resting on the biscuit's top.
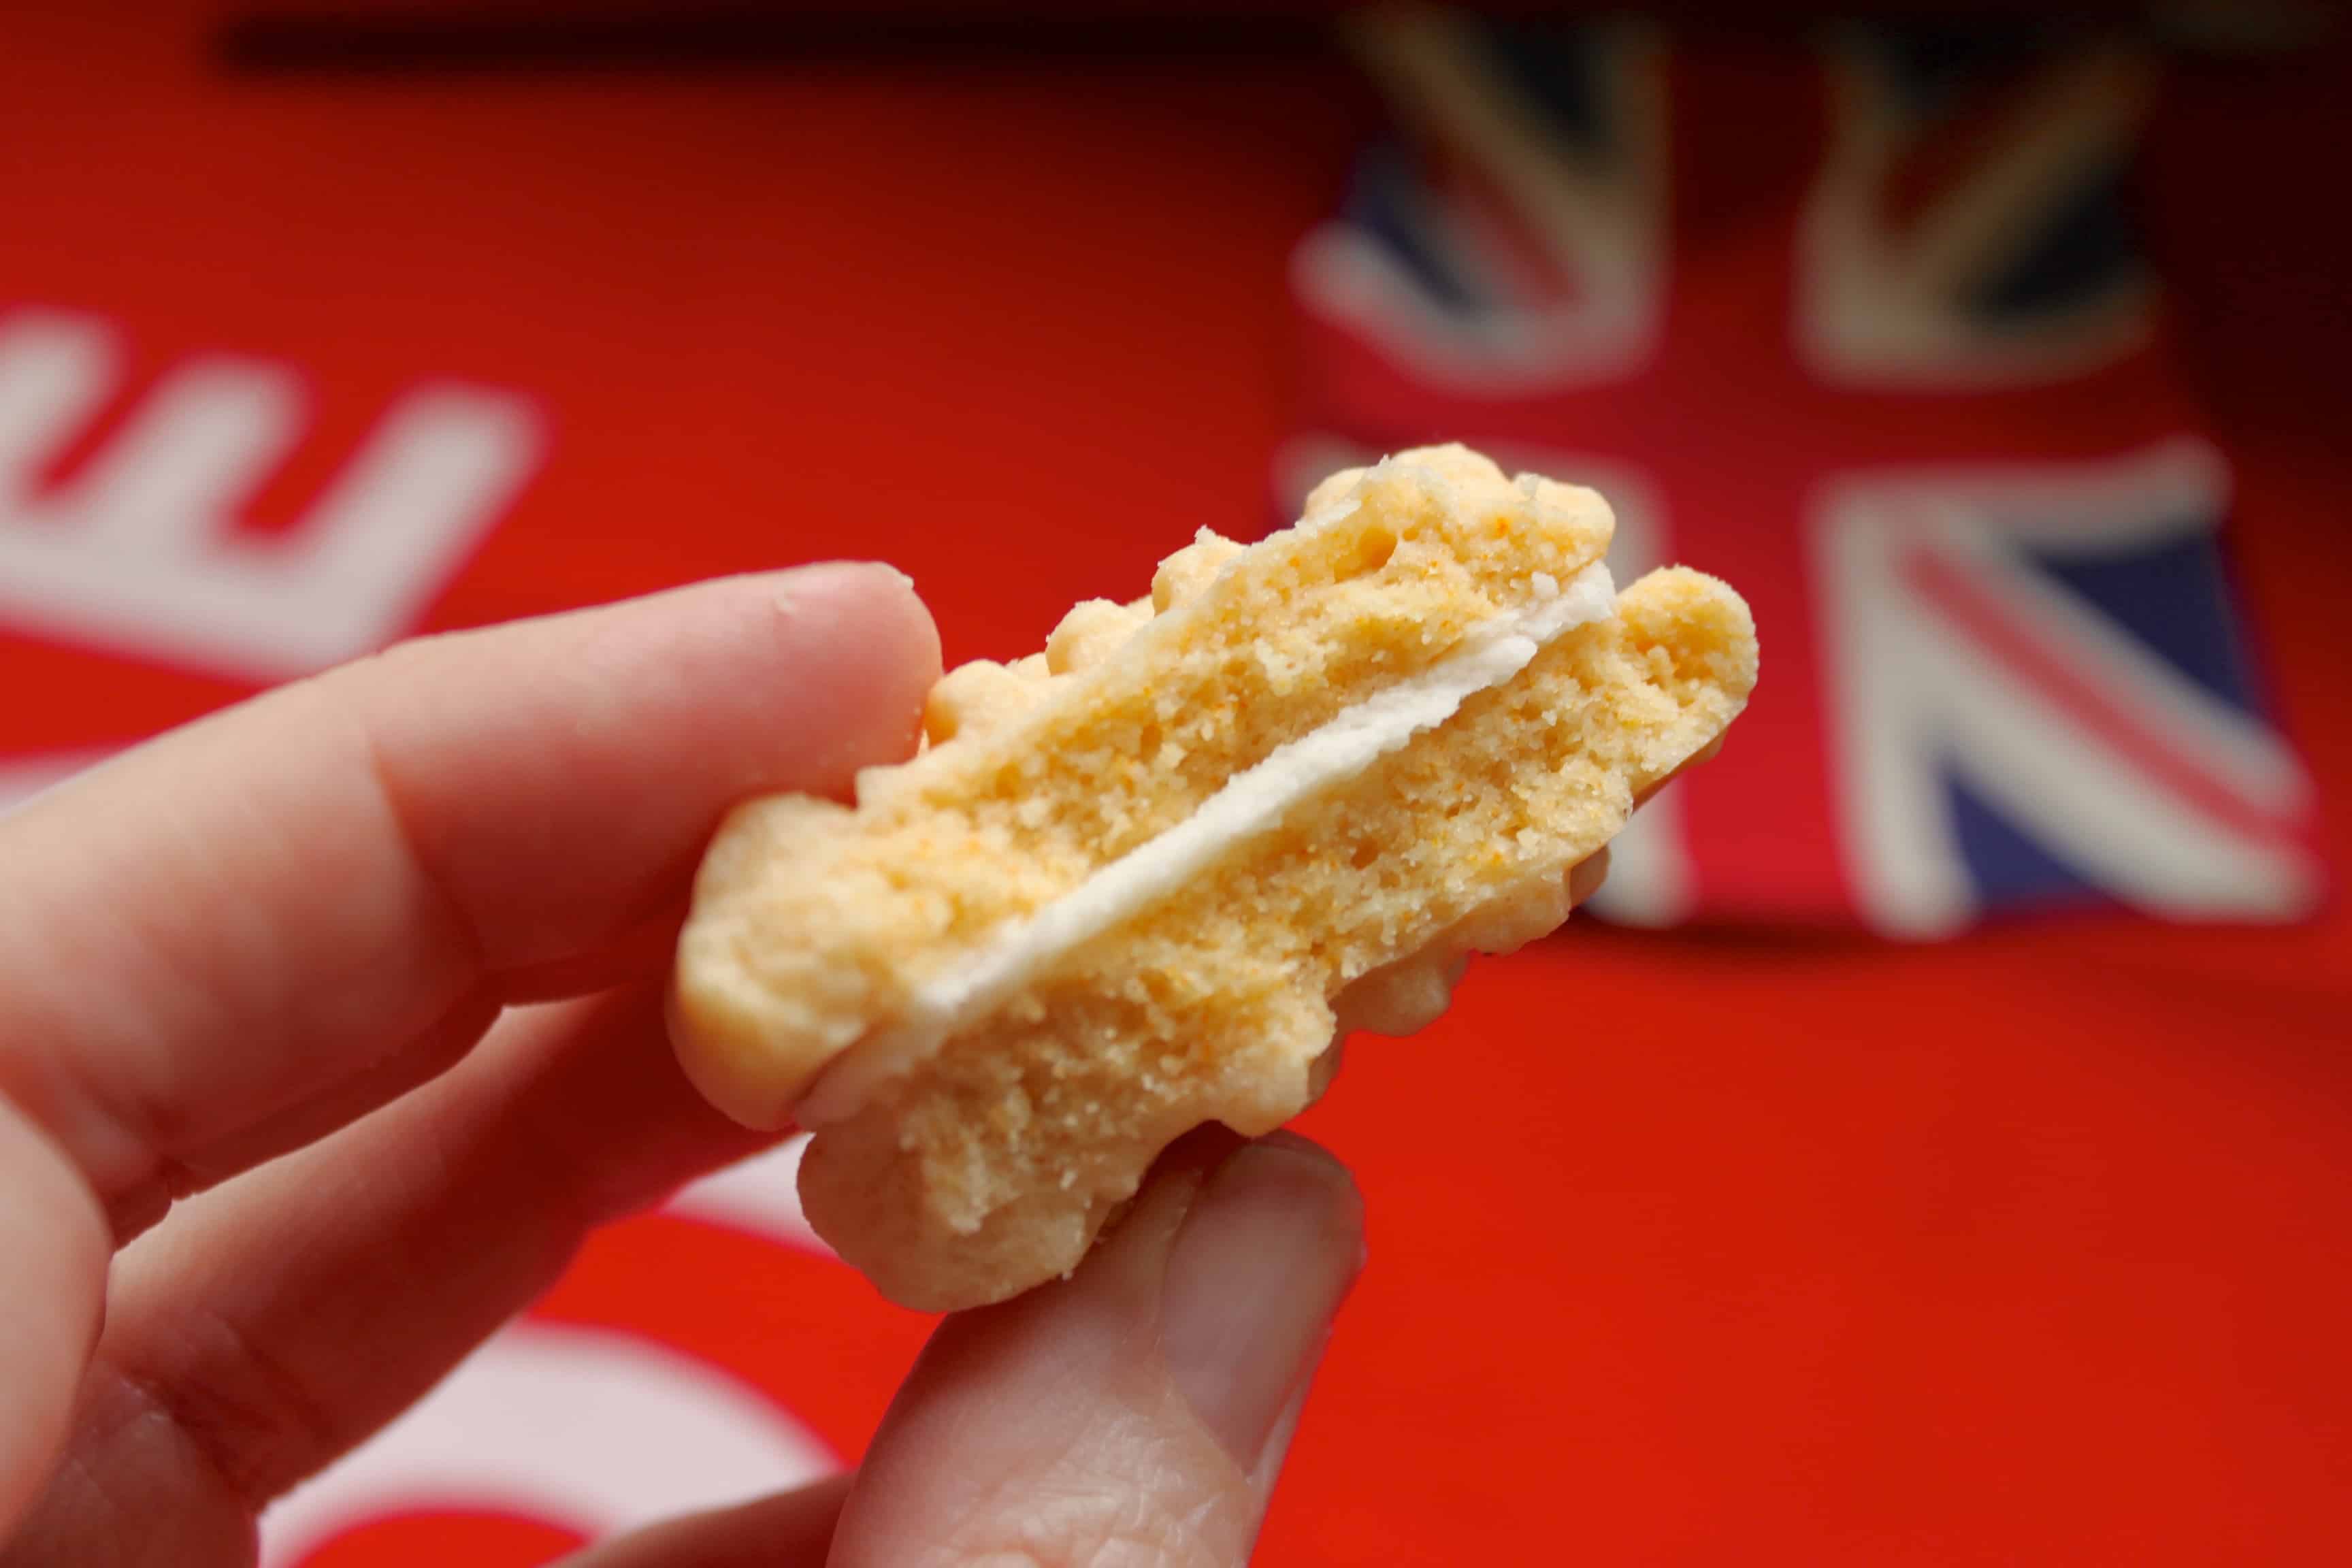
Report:
[{"label": "topmost finger of the hand, its tip resting on the biscuit's top", "polygon": [[165,736],[0,825],[0,1095],[111,1204],[670,905],[736,799],[903,757],[936,675],[906,578],[837,564],[405,644]]}]

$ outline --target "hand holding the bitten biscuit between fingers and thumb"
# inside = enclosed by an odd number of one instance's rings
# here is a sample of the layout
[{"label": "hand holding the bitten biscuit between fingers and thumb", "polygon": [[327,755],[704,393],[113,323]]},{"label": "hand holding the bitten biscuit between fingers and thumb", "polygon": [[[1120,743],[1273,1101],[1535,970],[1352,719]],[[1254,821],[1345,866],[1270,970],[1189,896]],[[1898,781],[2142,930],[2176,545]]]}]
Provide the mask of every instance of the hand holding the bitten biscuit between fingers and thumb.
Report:
[{"label": "hand holding the bitten biscuit between fingers and thumb", "polygon": [[[694,860],[903,757],[936,675],[891,571],[729,578],[393,649],[0,823],[0,1563],[252,1561],[593,1225],[753,1152],[663,1041]],[[1200,1133],[1073,1279],[948,1319],[856,1476],[579,1561],[1240,1563],[1359,1258],[1331,1157]]]}]

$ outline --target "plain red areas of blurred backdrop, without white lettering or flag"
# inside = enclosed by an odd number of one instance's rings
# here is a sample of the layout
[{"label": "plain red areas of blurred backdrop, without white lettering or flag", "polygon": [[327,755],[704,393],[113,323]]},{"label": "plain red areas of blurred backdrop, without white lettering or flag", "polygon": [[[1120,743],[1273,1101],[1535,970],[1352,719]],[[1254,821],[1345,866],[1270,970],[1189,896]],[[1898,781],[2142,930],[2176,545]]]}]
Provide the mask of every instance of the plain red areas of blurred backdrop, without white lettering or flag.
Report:
[{"label": "plain red areas of blurred backdrop, without white lettering or flag", "polygon": [[[546,409],[430,625],[856,552],[915,574],[950,661],[1007,656],[1265,515],[1284,256],[1359,129],[1336,59],[233,78],[209,7],[64,12],[0,19],[0,303],[101,313],[148,371],[303,367],[318,428],[252,527],[414,378]],[[2192,71],[2147,188],[2336,820],[2352,244],[2312,181],[2347,87],[2328,54]],[[0,632],[0,752],[240,693]],[[1265,1561],[2343,1561],[2347,1001],[2340,910],[1585,929],[1477,969],[1308,1119],[1374,1262]],[[847,1455],[924,1328],[677,1218],[600,1237],[543,1312],[684,1345]],[[426,1537],[555,1540],[409,1523],[336,1561]]]}]

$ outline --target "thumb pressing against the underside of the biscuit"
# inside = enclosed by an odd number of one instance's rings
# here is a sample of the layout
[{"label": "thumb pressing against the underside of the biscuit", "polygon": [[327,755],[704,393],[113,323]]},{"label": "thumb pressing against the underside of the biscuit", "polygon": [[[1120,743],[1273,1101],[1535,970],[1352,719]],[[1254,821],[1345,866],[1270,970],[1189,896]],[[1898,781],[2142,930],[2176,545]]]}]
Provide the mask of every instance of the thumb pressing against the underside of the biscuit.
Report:
[{"label": "thumb pressing against the underside of the biscuit", "polygon": [[1185,1138],[1070,1279],[941,1324],[833,1568],[1244,1563],[1362,1237],[1312,1143]]}]

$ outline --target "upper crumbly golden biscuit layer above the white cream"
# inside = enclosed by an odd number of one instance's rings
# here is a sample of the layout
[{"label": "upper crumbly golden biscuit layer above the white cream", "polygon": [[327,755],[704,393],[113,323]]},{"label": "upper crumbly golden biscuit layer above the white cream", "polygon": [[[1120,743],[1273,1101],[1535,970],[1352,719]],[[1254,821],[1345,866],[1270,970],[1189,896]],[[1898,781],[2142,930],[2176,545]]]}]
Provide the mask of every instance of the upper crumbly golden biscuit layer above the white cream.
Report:
[{"label": "upper crumbly golden biscuit layer above the white cream", "polygon": [[1204,534],[1150,602],[1080,604],[1042,658],[948,672],[929,748],[863,773],[856,811],[776,797],[720,830],[680,950],[689,1072],[781,1126],[920,976],[1524,609],[1538,578],[1571,581],[1609,534],[1588,489],[1414,451],[1334,475],[1251,550]]}]

